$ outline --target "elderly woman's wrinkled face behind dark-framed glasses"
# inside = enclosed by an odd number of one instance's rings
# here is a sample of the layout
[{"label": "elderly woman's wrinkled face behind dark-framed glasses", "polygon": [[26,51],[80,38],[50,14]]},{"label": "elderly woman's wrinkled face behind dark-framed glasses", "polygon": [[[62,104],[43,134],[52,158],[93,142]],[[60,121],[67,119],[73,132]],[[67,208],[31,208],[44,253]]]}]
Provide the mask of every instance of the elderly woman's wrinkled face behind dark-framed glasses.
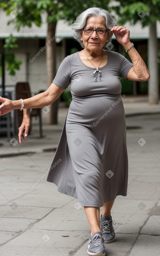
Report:
[{"label": "elderly woman's wrinkled face behind dark-framed glasses", "polygon": [[[105,25],[105,19],[103,17],[92,16],[87,19],[85,28],[92,28],[94,30],[103,28],[107,29]],[[92,35],[85,35],[83,30],[80,30],[81,40],[83,41],[86,50],[91,52],[102,51],[102,48],[106,44],[106,40],[109,38],[108,31],[105,36],[97,36],[96,31]]]}]

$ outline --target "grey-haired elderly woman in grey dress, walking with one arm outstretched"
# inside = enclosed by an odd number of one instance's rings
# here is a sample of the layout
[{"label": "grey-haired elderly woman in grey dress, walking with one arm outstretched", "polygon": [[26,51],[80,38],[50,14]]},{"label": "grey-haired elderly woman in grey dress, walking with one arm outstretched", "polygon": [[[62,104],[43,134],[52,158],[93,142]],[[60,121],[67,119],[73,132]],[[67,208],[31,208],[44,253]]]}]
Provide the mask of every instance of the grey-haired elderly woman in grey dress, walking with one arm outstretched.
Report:
[{"label": "grey-haired elderly woman in grey dress, walking with one arm outstretched", "polygon": [[[117,195],[127,195],[128,158],[120,77],[147,81],[150,74],[130,42],[130,31],[117,26],[115,17],[107,10],[85,10],[72,28],[73,37],[83,50],[62,61],[45,92],[24,101],[0,98],[0,115],[23,107],[49,105],[70,84],[73,100],[47,181],[55,183],[61,193],[76,197],[78,204],[84,206],[91,227],[87,253],[101,256],[106,254],[104,243],[115,239],[111,217],[114,200]],[[132,63],[121,54],[104,49],[113,33]],[[28,130],[28,120],[29,111],[25,110],[19,128],[20,143],[24,128]]]}]

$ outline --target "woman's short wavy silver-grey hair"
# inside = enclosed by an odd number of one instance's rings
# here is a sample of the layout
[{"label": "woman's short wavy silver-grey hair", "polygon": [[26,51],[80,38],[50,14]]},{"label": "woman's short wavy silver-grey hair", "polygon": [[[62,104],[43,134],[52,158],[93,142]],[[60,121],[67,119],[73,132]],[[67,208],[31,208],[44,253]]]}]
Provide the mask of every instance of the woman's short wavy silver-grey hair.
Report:
[{"label": "woman's short wavy silver-grey hair", "polygon": [[83,41],[81,41],[79,30],[82,30],[85,27],[87,18],[90,18],[92,16],[104,17],[106,22],[106,28],[107,30],[109,30],[109,34],[111,34],[108,42],[112,41],[111,39],[113,36],[113,32],[111,32],[110,30],[117,24],[116,17],[110,14],[105,9],[99,7],[91,7],[80,13],[72,25],[72,29],[74,30],[73,38],[78,41],[82,48],[84,48],[84,44]]}]

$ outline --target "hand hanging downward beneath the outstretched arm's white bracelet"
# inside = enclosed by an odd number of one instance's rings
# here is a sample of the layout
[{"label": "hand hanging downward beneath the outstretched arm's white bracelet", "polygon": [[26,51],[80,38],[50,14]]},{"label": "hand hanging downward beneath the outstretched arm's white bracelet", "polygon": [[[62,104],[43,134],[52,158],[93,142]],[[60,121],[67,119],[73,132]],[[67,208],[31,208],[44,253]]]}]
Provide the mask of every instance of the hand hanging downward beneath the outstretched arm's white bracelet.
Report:
[{"label": "hand hanging downward beneath the outstretched arm's white bracelet", "polygon": [[[18,130],[19,130],[18,137],[19,137],[19,142],[20,142],[20,144],[22,143],[22,138],[23,138],[23,137],[24,137],[24,139],[27,141],[27,138],[26,138],[26,137],[27,137],[27,135],[28,135],[30,125],[31,125],[31,120],[30,120],[29,115],[23,116],[22,124],[21,124],[21,126],[18,128]],[[25,130],[25,131],[24,131],[24,130]],[[23,133],[23,131],[24,131],[24,133]]]}]

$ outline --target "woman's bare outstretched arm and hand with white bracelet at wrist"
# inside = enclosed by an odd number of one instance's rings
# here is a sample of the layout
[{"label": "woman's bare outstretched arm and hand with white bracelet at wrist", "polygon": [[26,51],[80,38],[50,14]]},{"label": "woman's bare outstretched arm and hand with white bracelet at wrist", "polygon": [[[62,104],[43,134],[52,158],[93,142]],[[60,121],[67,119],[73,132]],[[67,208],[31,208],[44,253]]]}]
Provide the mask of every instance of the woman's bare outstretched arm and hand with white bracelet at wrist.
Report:
[{"label": "woman's bare outstretched arm and hand with white bracelet at wrist", "polygon": [[[62,94],[64,89],[52,83],[49,88],[31,98],[24,99],[24,108],[40,108],[52,104]],[[0,97],[0,116],[15,109],[21,109],[21,100],[9,100]]]}]

